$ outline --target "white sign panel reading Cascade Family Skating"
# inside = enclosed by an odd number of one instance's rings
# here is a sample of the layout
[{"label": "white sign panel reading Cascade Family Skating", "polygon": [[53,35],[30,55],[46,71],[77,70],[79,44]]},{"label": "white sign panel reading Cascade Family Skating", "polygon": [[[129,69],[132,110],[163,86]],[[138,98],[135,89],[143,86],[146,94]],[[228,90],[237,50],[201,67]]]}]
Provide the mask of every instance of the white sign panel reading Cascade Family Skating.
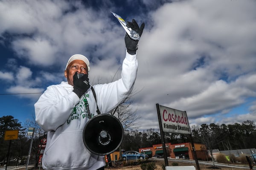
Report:
[{"label": "white sign panel reading Cascade Family Skating", "polygon": [[163,131],[167,133],[190,134],[186,111],[179,111],[159,105]]}]

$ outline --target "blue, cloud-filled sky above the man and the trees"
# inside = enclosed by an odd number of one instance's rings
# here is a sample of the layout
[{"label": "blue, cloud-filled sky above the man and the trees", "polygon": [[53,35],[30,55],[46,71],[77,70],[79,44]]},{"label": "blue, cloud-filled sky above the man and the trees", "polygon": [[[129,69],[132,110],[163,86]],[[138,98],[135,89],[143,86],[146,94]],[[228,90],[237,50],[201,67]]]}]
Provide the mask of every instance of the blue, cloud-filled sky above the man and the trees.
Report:
[{"label": "blue, cloud-filled sky above the man and the trees", "polygon": [[119,79],[125,30],[110,11],[145,23],[138,130],[159,129],[157,103],[186,111],[190,126],[256,122],[255,0],[1,0],[0,117],[33,119],[73,54],[90,60],[92,85]]}]

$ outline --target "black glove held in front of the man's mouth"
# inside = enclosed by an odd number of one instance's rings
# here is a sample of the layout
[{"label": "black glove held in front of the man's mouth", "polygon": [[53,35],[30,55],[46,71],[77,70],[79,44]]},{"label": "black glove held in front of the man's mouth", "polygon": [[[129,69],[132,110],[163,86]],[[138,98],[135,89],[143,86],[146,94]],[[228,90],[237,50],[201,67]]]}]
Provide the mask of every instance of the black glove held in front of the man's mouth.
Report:
[{"label": "black glove held in front of the man's mouth", "polygon": [[77,77],[77,72],[73,76],[73,92],[81,98],[81,96],[90,88],[88,74],[84,74],[82,77]]}]

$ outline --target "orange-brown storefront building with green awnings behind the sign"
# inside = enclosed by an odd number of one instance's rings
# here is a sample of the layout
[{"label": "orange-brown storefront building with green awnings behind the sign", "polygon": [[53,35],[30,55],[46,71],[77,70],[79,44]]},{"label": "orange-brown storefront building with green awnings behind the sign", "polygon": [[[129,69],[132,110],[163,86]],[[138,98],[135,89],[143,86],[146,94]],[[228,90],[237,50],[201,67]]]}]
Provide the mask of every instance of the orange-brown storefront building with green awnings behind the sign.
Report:
[{"label": "orange-brown storefront building with green awnings behind the sign", "polygon": [[[198,160],[207,160],[207,150],[204,144],[194,144],[195,152]],[[192,152],[192,144],[181,143],[171,144],[166,143],[167,156],[176,159],[195,159]],[[149,157],[163,157],[162,144],[154,144],[152,147],[140,148],[140,153],[148,154]]]}]

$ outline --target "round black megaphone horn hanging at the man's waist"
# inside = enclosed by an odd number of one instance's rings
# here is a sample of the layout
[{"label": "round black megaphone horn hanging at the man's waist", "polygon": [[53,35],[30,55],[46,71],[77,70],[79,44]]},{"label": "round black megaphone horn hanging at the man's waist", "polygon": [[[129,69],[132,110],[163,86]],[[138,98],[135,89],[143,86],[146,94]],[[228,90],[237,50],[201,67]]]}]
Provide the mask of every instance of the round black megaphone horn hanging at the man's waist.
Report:
[{"label": "round black megaphone horn hanging at the man's waist", "polygon": [[83,130],[85,147],[96,155],[113,153],[121,145],[124,130],[121,122],[110,114],[91,118]]}]

